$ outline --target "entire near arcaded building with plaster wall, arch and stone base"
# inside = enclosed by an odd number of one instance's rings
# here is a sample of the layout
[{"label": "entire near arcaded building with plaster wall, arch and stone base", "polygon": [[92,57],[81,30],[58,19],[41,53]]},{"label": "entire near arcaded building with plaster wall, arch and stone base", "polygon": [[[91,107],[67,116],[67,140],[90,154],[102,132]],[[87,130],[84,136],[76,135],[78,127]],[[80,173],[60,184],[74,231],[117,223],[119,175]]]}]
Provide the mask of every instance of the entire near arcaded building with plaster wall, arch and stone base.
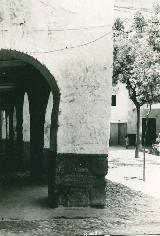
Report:
[{"label": "entire near arcaded building with plaster wall, arch and stone base", "polygon": [[0,2],[2,164],[28,155],[39,179],[47,147],[51,206],[105,201],[112,9],[111,0]]}]

